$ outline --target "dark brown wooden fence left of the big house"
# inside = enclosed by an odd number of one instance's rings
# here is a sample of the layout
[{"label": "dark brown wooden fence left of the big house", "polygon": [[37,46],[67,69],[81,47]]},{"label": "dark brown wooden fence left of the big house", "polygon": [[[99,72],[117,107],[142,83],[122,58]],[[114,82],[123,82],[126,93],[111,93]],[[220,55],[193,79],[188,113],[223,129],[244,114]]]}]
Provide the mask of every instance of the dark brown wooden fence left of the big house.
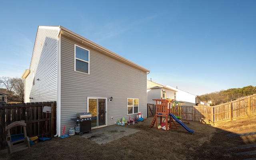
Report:
[{"label": "dark brown wooden fence left of the big house", "polygon": [[[51,113],[43,113],[44,106],[51,107]],[[46,119],[46,114],[47,119]],[[40,103],[6,104],[0,106],[0,150],[6,149],[6,126],[12,122],[25,120],[28,137],[53,137],[56,134],[56,101]],[[45,127],[44,127],[45,126]],[[12,134],[20,134],[18,127],[11,130]]]}]

